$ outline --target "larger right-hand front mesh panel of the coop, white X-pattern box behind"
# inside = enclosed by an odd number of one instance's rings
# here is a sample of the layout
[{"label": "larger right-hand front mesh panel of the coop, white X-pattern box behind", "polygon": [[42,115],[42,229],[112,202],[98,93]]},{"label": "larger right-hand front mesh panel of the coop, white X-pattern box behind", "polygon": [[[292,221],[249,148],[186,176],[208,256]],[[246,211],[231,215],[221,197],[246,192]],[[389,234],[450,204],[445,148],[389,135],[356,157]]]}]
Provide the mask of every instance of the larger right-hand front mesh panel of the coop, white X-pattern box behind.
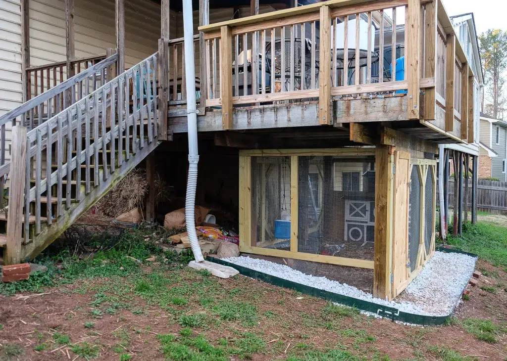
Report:
[{"label": "larger right-hand front mesh panel of the coop, white X-pattern box behind", "polygon": [[298,251],[373,260],[375,157],[300,156]]}]

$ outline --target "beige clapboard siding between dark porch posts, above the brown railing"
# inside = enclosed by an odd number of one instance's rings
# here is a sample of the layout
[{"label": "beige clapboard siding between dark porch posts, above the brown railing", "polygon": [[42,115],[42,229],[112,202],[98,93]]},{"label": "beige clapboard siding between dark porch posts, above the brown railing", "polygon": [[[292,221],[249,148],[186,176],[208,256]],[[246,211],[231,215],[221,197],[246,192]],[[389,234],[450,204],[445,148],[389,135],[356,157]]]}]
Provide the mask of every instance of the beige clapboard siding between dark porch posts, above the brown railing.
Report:
[{"label": "beige clapboard siding between dark porch posts, above the brown railing", "polygon": [[[105,53],[115,43],[114,0],[75,1],[76,57]],[[65,60],[65,7],[61,0],[30,1],[30,64]],[[172,19],[176,18],[174,13]],[[176,31],[176,24],[171,24]],[[150,0],[125,3],[125,63],[130,67],[158,49],[160,5]]]}]

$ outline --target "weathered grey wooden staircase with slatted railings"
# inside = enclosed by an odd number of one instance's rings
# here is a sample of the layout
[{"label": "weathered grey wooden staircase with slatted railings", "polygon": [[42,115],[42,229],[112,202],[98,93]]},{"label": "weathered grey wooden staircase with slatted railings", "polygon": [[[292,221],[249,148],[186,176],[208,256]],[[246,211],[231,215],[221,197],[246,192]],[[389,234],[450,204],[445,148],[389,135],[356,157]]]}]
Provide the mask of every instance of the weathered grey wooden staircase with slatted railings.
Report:
[{"label": "weathered grey wooden staircase with slatted railings", "polygon": [[[8,207],[0,212],[0,263],[37,256],[160,144],[157,57],[90,93],[82,88],[91,75],[78,74],[60,94],[79,100],[33,128],[13,127],[11,161],[0,165],[0,177],[10,178]],[[55,96],[44,94],[0,125],[15,124],[18,115],[21,124],[34,124],[34,104],[42,114],[46,102],[51,113]]]}]

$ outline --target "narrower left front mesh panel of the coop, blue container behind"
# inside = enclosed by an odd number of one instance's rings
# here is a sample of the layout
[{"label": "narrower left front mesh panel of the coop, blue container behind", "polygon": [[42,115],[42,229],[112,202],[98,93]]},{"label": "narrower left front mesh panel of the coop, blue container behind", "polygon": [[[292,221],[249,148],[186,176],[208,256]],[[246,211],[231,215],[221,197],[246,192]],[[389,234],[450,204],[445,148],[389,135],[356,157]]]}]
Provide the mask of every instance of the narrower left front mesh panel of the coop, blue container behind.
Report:
[{"label": "narrower left front mesh panel of the coop, blue container behind", "polygon": [[291,249],[291,157],[251,158],[252,247]]}]

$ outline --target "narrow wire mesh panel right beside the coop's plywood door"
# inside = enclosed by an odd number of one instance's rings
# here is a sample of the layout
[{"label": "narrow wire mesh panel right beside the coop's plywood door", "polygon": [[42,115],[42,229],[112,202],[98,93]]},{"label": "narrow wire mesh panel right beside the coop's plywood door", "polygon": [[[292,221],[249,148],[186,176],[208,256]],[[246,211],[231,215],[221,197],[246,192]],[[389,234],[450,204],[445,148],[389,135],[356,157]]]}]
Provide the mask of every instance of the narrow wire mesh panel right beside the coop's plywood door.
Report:
[{"label": "narrow wire mesh panel right beside the coop's plywood door", "polygon": [[409,198],[409,262],[410,271],[413,272],[417,263],[419,253],[420,229],[421,229],[421,182],[417,166],[412,167],[410,176],[410,198]]}]

